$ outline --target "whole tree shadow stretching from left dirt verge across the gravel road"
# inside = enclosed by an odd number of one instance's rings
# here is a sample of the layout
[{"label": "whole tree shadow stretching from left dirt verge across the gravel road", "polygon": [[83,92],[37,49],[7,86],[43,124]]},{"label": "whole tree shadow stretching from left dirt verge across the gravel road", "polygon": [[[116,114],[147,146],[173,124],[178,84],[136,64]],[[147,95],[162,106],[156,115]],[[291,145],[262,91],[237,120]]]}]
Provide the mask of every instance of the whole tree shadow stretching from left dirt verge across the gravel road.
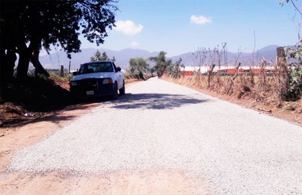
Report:
[{"label": "whole tree shadow stretching from left dirt verge across the gravel road", "polygon": [[[98,106],[100,103],[113,104],[111,108],[114,109],[174,109],[190,104],[199,104],[210,102],[207,99],[196,99],[192,96],[181,94],[165,94],[165,93],[140,93],[119,95],[118,100],[111,101],[110,97],[91,97],[84,99],[71,99],[67,104],[56,107],[52,111],[45,113],[45,115],[36,117],[18,117],[15,121],[7,122],[6,127],[18,127],[29,123],[50,121],[52,123],[59,123],[60,121],[68,121],[79,117],[79,114],[72,113],[72,111],[86,110]],[[61,115],[62,111],[71,111]],[[36,114],[36,113],[35,113]],[[8,126],[7,126],[8,125]]]}]

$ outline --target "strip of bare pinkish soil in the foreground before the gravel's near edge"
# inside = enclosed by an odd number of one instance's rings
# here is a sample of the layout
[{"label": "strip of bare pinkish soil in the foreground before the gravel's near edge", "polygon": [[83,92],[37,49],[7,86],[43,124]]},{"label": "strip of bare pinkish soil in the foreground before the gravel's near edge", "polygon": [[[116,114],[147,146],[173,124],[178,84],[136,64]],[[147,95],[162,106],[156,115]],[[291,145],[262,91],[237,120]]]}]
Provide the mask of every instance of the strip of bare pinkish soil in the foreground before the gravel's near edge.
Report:
[{"label": "strip of bare pinkish soil in the foreground before the gravel's near edge", "polygon": [[0,190],[2,194],[211,194],[203,179],[179,170],[106,175],[8,173],[0,175]]}]

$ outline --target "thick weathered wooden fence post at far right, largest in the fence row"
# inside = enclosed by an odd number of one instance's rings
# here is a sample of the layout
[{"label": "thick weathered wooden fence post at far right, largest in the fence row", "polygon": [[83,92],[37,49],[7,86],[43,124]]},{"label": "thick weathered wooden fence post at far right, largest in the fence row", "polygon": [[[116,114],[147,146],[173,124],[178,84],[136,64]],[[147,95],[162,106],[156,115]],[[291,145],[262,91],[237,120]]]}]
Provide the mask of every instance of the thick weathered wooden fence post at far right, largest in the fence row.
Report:
[{"label": "thick weathered wooden fence post at far right, largest in the fence row", "polygon": [[287,99],[288,89],[289,89],[289,78],[288,78],[288,70],[287,63],[285,58],[285,52],[283,47],[277,48],[277,58],[276,65],[279,69],[279,79],[278,79],[278,89],[277,93],[280,101],[284,101]]}]

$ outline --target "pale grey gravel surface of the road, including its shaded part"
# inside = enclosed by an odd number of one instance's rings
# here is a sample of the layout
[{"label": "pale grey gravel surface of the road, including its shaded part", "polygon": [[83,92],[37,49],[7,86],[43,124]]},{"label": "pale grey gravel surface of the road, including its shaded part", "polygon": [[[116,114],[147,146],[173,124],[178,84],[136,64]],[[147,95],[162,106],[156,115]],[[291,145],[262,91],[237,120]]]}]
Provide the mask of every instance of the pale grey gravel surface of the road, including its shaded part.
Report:
[{"label": "pale grey gravel surface of the road, including its shaded part", "polygon": [[8,170],[181,169],[214,194],[302,193],[302,128],[152,78],[41,142]]}]

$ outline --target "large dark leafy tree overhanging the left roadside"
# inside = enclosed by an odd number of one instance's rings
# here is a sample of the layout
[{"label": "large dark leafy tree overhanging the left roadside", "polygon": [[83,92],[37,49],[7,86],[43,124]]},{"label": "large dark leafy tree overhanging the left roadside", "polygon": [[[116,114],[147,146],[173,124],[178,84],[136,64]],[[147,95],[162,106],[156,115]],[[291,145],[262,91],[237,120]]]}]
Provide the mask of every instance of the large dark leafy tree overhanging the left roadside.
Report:
[{"label": "large dark leafy tree overhanging the left roadside", "polygon": [[97,45],[112,29],[117,10],[113,0],[1,1],[1,76],[12,76],[19,54],[17,77],[27,76],[31,61],[38,73],[47,74],[39,62],[39,51],[61,48],[70,58],[80,52],[83,34]]}]

